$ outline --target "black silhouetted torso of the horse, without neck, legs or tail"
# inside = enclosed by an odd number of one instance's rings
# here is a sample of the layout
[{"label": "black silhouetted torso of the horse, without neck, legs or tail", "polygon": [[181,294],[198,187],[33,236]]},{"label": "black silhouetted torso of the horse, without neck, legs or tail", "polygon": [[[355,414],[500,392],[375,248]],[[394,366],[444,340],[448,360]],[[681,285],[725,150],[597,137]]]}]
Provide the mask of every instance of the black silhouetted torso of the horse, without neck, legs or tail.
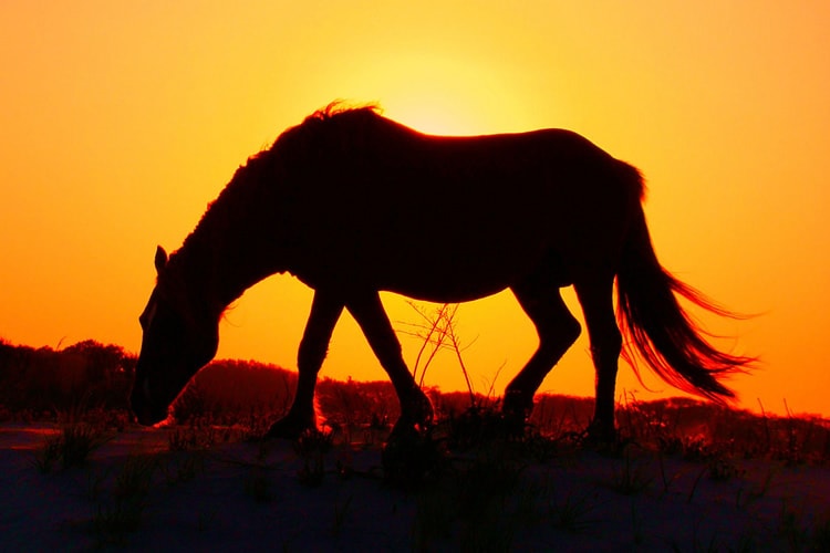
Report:
[{"label": "black silhouetted torso of the horse, without neck, legs or tail", "polygon": [[458,301],[511,285],[551,252],[619,249],[633,192],[620,161],[582,136],[444,137],[386,122],[339,129],[294,204],[317,278]]}]

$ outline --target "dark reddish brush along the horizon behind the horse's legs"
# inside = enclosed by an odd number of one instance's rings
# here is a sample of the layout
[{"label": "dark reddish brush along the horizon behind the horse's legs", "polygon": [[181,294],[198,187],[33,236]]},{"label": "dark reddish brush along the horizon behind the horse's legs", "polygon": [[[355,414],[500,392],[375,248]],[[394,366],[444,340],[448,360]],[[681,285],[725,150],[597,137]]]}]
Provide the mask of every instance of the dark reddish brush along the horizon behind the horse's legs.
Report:
[{"label": "dark reddish brush along the horizon behind the horse's legs", "polygon": [[[83,419],[112,429],[131,422],[127,396],[135,355],[117,345],[83,341],[62,349],[0,341],[0,421]],[[264,431],[291,404],[295,373],[273,365],[216,361],[204,368],[170,409],[169,422],[245,427]],[[439,435],[454,449],[475,447],[499,434],[498,399],[470,393],[427,390]],[[321,427],[349,442],[378,444],[398,416],[388,382],[319,383]],[[548,449],[579,442],[593,400],[541,395],[527,435]],[[657,447],[691,460],[774,458],[787,463],[830,463],[830,421],[818,416],[754,415],[689,398],[623,401],[621,440]],[[540,449],[544,450],[544,447]]]}]

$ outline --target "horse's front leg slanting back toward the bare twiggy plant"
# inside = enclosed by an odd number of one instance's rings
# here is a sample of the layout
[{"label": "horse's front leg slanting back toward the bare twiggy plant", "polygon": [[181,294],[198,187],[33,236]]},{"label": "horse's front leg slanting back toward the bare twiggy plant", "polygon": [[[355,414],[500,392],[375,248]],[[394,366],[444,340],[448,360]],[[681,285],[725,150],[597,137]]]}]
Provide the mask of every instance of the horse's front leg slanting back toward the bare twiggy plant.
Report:
[{"label": "horse's front leg slanting back toward the bare twiggy plant", "polygon": [[401,403],[401,418],[395,430],[423,430],[433,422],[433,406],[429,398],[415,383],[401,353],[395,331],[383,309],[377,292],[354,295],[346,302],[346,309],[354,316],[369,341],[381,365],[388,374]]}]

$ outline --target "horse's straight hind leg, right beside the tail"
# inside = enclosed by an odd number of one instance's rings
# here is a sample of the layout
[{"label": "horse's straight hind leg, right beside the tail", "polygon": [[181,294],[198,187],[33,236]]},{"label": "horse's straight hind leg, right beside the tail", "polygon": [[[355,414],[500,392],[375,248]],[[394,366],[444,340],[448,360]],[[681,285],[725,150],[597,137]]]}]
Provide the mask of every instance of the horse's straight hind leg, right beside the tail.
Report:
[{"label": "horse's straight hind leg, right beside the tail", "polygon": [[613,305],[613,275],[573,284],[582,305],[596,371],[596,400],[589,435],[602,441],[614,438],[614,386],[622,348]]}]

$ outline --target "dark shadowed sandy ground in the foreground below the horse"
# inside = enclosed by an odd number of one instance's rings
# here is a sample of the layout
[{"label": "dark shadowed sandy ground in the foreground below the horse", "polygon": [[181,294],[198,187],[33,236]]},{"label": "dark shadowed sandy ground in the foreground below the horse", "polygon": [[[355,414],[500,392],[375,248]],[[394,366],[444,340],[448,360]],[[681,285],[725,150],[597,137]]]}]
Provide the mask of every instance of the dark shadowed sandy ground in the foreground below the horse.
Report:
[{"label": "dark shadowed sandy ground in the foreground below the horse", "polygon": [[[772,461],[732,461],[713,479],[703,461],[577,451],[528,461],[505,500],[480,482],[465,503],[384,484],[376,447],[335,446],[312,488],[291,444],[169,452],[165,429],[131,428],[83,467],[42,473],[33,459],[53,431],[0,425],[0,551],[790,551],[830,520],[830,469]],[[115,531],[115,481],[147,453],[160,468],[137,528]],[[496,511],[475,520],[470,502]]]}]

